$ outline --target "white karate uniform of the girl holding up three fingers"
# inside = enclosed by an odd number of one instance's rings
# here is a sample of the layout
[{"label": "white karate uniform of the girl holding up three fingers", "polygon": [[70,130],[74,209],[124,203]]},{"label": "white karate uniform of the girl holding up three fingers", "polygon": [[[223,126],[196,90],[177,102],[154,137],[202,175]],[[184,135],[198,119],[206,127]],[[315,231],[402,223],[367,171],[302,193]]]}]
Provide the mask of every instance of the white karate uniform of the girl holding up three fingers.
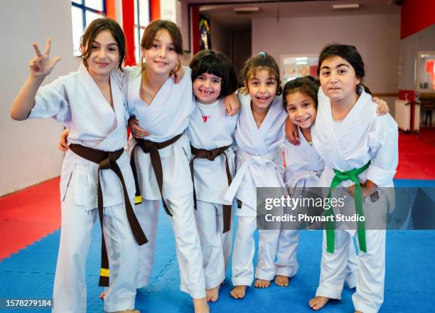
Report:
[{"label": "white karate uniform of the girl holding up three fingers", "polygon": [[[28,118],[53,117],[69,129],[68,142],[113,152],[127,142],[128,114],[117,75],[110,83],[114,107],[84,65],[53,83],[40,87]],[[117,159],[134,206],[134,179],[127,154]],[[98,164],[70,149],[60,175],[62,221],[60,248],[53,291],[53,312],[85,312],[85,262],[97,211]],[[104,310],[134,309],[138,245],[125,211],[122,184],[112,170],[100,173],[104,199],[104,238],[109,256],[109,287],[104,289]]]}]

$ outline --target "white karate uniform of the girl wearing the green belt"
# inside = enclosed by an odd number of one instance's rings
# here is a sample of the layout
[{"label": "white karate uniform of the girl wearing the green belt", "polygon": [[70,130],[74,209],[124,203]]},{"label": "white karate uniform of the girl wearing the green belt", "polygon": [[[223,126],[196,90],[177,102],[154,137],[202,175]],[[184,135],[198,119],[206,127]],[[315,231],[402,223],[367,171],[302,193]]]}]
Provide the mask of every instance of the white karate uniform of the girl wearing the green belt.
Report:
[{"label": "white karate uniform of the girl wearing the green belt", "polygon": [[[380,187],[392,187],[392,179],[398,160],[397,123],[390,115],[377,116],[376,104],[362,90],[358,101],[343,121],[332,119],[331,103],[319,90],[316,126],[312,129],[313,144],[325,161],[321,186],[331,185],[333,169],[348,171],[358,169],[368,161],[370,166],[359,179],[367,179]],[[353,185],[343,181],[340,186]],[[391,203],[380,191],[380,199],[372,203],[370,197],[363,200],[363,210]],[[341,298],[348,245],[355,230],[335,230],[335,252],[326,251],[326,233],[323,234],[323,254],[320,284],[316,296]],[[353,295],[355,310],[377,312],[384,298],[385,278],[385,230],[366,230],[367,253],[359,252],[359,272],[356,292]]]}]

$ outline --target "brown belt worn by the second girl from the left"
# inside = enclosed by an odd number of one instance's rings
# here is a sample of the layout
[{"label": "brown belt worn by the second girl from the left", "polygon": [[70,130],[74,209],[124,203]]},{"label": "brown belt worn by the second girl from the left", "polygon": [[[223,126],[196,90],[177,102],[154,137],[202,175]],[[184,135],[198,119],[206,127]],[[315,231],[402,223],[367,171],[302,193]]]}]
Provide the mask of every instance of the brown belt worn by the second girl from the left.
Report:
[{"label": "brown belt worn by the second girl from the left", "polygon": [[149,140],[145,139],[137,139],[136,145],[133,147],[133,150],[131,150],[131,157],[130,157],[130,165],[131,169],[133,170],[133,176],[134,176],[134,184],[136,184],[136,201],[135,204],[139,204],[142,202],[142,195],[139,188],[139,179],[137,178],[137,171],[136,171],[136,158],[134,157],[134,151],[136,150],[136,147],[141,147],[142,151],[144,153],[149,153],[149,156],[151,157],[151,166],[153,166],[154,174],[156,175],[157,184],[159,185],[160,190],[160,196],[161,196],[161,202],[163,203],[163,208],[165,209],[168,216],[172,216],[171,211],[169,211],[168,206],[166,205],[165,200],[163,199],[163,169],[161,168],[161,159],[159,154],[159,149],[166,148],[176,142],[178,139],[180,139],[182,134],[178,134],[176,137],[173,137],[169,140],[166,140],[166,142],[151,142]]}]

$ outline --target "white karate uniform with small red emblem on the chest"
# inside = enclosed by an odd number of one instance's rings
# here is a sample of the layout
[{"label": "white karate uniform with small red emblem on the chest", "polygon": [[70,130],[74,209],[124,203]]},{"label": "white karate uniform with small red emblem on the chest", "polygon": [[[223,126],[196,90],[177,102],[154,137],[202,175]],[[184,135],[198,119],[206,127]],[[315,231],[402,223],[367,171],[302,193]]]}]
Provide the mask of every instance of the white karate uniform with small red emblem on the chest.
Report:
[{"label": "white karate uniform with small red emblem on the chest", "polygon": [[[236,122],[237,115],[226,114],[223,100],[217,100],[210,105],[197,101],[186,131],[190,144],[197,149],[213,150],[231,146],[225,150],[225,154],[232,177],[235,175],[235,152],[232,144]],[[197,200],[195,220],[203,251],[205,287],[210,289],[220,285],[225,279],[225,259],[230,257],[232,244],[232,228],[227,233],[222,233],[223,205],[234,203],[223,198],[228,189],[225,156],[220,155],[214,161],[195,159],[193,176]]]}]

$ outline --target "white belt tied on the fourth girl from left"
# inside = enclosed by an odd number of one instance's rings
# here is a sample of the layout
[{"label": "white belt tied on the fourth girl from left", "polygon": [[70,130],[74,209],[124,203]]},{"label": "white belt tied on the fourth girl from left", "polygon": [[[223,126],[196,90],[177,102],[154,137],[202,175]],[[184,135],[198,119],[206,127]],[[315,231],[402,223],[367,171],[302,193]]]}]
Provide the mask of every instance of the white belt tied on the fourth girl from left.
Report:
[{"label": "white belt tied on the fourth girl from left", "polygon": [[[281,149],[275,149],[273,152],[269,154],[263,154],[263,155],[252,155],[247,152],[244,152],[242,150],[237,150],[237,154],[245,160],[243,165],[240,167],[240,169],[237,169],[236,175],[234,179],[232,179],[231,185],[228,187],[227,192],[225,193],[224,199],[225,201],[232,202],[232,199],[235,197],[237,190],[240,187],[240,184],[242,184],[243,177],[245,176],[245,173],[249,166],[252,164],[259,164],[262,166],[272,166],[278,171],[282,169],[281,164],[276,164],[273,159],[276,157],[277,154],[281,153]],[[281,178],[281,186],[284,186],[284,181],[282,181]]]}]

